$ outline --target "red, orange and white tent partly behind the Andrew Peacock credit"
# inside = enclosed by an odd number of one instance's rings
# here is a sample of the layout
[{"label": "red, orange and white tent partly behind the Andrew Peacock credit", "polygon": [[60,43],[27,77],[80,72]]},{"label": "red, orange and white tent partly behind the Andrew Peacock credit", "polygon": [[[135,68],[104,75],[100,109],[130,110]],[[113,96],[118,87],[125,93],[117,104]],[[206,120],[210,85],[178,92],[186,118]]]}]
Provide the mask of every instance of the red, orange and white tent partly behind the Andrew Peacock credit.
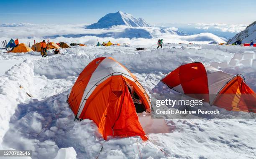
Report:
[{"label": "red, orange and white tent partly behind the Andrew Peacock credit", "polygon": [[186,63],[166,75],[161,82],[190,97],[227,110],[256,113],[256,94],[243,76],[230,75],[200,62]]}]

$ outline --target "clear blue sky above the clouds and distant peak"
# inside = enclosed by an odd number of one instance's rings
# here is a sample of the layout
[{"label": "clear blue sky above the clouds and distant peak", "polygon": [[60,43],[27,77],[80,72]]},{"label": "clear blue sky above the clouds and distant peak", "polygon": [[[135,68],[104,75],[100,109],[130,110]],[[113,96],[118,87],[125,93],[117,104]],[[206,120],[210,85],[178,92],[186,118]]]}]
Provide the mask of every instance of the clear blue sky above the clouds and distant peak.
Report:
[{"label": "clear blue sky above the clouds and distant peak", "polygon": [[1,0],[0,4],[0,24],[94,23],[118,10],[148,23],[250,24],[256,20],[255,0]]}]

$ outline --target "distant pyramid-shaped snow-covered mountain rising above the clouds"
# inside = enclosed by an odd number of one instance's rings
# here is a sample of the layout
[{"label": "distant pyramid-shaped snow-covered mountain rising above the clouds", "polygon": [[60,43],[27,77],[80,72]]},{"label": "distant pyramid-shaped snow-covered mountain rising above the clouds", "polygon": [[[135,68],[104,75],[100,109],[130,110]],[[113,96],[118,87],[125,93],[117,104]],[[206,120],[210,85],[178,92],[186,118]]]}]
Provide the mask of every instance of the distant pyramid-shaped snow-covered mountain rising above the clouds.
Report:
[{"label": "distant pyramid-shaped snow-covered mountain rising above the clouds", "polygon": [[118,11],[116,13],[109,13],[100,18],[97,23],[87,26],[87,29],[104,29],[115,25],[125,25],[128,27],[149,27],[148,23],[143,18],[133,17],[131,14]]}]

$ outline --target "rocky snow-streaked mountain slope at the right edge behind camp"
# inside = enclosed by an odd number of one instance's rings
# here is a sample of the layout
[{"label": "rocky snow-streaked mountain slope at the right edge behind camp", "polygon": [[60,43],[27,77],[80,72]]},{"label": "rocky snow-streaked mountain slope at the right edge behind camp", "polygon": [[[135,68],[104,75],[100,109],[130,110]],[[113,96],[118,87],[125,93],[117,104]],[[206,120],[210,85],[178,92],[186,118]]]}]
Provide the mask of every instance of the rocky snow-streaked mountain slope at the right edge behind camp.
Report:
[{"label": "rocky snow-streaked mountain slope at the right edge behind camp", "polygon": [[251,40],[256,40],[256,21],[246,27],[245,30],[239,32],[232,39],[228,40],[228,44],[242,40],[242,43],[249,43]]}]

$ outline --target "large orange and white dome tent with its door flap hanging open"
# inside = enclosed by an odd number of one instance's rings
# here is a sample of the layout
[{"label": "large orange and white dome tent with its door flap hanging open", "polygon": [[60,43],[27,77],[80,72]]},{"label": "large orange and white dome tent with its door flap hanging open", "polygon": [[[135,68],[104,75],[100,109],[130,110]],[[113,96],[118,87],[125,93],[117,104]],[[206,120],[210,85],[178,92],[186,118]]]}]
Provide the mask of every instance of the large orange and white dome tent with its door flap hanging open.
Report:
[{"label": "large orange and white dome tent with its door flap hanging open", "polygon": [[91,119],[104,139],[140,136],[136,111],[150,112],[150,100],[137,78],[111,57],[99,57],[81,72],[67,102],[77,119]]}]

